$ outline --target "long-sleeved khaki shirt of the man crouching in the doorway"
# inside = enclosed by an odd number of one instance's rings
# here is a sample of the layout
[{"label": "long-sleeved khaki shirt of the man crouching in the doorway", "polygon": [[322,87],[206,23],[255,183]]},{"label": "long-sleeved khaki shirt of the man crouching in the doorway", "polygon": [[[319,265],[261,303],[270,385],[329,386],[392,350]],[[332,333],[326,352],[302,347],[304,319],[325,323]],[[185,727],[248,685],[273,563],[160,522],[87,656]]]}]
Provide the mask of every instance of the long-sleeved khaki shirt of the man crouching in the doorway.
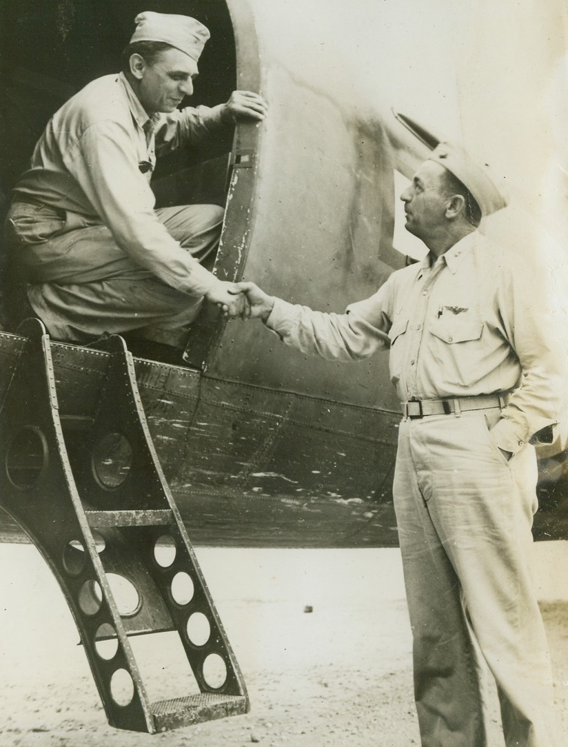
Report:
[{"label": "long-sleeved khaki shirt of the man crouching in the doorway", "polygon": [[205,294],[217,279],[182,249],[154,212],[149,180],[156,154],[221,126],[220,106],[144,111],[123,73],[87,84],[49,121],[14,190],[64,211],[66,230],[104,223],[137,264],[167,285]]}]

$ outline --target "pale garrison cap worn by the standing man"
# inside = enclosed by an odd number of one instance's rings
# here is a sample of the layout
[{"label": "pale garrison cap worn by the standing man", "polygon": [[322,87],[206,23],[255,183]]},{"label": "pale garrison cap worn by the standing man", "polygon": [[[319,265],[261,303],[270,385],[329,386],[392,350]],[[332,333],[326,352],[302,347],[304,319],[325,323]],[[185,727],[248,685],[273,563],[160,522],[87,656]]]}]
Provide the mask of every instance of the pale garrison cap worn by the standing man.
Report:
[{"label": "pale garrison cap worn by the standing man", "polygon": [[477,164],[465,150],[451,143],[439,143],[427,158],[450,171],[469,189],[483,216],[496,213],[507,206],[504,190],[496,185],[488,164]]}]

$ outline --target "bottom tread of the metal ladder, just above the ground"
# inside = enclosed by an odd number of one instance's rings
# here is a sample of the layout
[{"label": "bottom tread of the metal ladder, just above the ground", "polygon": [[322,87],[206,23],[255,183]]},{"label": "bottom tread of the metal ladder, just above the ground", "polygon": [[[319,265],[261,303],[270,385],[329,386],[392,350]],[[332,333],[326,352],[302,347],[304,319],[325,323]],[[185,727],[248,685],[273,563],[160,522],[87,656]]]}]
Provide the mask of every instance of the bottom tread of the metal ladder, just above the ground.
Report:
[{"label": "bottom tread of the metal ladder, just above the ground", "polygon": [[248,698],[246,695],[200,692],[183,698],[156,701],[150,705],[150,710],[157,730],[167,731],[247,713]]}]

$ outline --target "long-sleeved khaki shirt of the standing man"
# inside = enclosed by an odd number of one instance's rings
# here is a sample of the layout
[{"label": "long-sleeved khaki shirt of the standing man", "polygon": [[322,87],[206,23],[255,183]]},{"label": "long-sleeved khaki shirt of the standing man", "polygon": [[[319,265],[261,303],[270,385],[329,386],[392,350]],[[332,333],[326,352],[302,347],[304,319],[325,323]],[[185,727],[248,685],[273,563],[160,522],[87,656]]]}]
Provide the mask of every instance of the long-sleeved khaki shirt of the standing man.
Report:
[{"label": "long-sleeved khaki shirt of the standing man", "polygon": [[478,232],[389,277],[376,294],[324,314],[278,299],[267,326],[286,344],[329,359],[390,348],[401,401],[513,391],[493,439],[515,453],[557,422],[564,356],[546,272],[523,266]]}]

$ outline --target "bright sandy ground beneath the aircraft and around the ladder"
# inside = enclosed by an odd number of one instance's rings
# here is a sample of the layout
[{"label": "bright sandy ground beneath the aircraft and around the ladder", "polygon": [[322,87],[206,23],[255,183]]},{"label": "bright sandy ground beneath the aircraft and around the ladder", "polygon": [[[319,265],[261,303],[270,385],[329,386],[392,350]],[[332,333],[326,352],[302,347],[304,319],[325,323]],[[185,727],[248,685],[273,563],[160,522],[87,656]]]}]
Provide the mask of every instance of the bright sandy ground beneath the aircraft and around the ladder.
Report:
[{"label": "bright sandy ground beneath the aircraft and around the ladder", "polygon": [[[155,736],[109,727],[49,569],[31,546],[0,545],[0,747],[419,745],[398,550],[197,554],[247,681],[249,714]],[[541,564],[558,577],[548,557]],[[554,579],[541,590],[558,594]],[[568,601],[542,607],[568,735]],[[156,698],[186,694],[167,648],[158,641],[145,665]],[[503,747],[495,704],[490,718],[490,745]]]}]

